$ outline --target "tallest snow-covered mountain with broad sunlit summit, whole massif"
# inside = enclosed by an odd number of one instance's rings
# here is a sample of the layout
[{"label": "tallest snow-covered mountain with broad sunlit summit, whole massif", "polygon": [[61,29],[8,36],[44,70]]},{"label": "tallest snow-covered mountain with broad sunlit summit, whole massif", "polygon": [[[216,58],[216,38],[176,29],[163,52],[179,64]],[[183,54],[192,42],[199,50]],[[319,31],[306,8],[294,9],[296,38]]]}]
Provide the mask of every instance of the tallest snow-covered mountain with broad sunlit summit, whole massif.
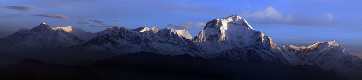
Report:
[{"label": "tallest snow-covered mountain with broad sunlit summit, whole massif", "polygon": [[207,22],[192,41],[205,47],[210,58],[289,64],[280,52],[273,51],[278,47],[269,36],[254,30],[238,15]]}]

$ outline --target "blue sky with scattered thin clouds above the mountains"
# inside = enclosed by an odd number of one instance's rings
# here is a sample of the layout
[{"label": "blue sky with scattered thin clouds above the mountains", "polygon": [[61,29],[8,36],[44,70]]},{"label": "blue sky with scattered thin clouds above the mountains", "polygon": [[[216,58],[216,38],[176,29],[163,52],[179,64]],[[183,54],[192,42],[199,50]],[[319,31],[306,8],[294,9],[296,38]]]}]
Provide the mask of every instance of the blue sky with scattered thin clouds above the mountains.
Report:
[{"label": "blue sky with scattered thin clouds above the mountains", "polygon": [[1,0],[0,38],[41,22],[87,32],[99,32],[104,26],[188,29],[194,37],[206,22],[236,14],[279,46],[336,40],[350,54],[362,56],[360,4],[359,0]]}]

